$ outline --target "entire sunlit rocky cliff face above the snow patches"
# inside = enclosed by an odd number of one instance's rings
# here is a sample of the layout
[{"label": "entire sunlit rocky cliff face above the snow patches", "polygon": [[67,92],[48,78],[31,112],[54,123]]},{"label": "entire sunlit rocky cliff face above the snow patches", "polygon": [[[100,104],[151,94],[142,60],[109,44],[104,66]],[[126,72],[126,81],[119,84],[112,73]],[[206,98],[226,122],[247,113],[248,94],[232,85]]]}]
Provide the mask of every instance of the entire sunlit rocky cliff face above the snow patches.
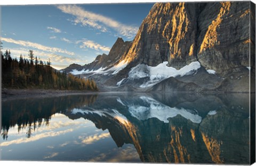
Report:
[{"label": "entire sunlit rocky cliff face above the snow patches", "polygon": [[126,55],[137,63],[181,68],[199,61],[222,73],[250,66],[250,3],[157,3]]}]

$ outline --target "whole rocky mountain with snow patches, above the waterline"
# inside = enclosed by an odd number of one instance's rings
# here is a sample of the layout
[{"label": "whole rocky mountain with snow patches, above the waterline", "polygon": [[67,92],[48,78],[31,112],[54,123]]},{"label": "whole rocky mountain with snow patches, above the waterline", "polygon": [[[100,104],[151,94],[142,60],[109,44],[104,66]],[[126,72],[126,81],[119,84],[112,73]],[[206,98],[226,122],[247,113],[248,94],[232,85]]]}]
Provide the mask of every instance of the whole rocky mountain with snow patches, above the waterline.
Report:
[{"label": "whole rocky mountain with snow patches, above the waterline", "polygon": [[133,41],[63,71],[105,91],[255,91],[254,13],[251,2],[156,3]]}]

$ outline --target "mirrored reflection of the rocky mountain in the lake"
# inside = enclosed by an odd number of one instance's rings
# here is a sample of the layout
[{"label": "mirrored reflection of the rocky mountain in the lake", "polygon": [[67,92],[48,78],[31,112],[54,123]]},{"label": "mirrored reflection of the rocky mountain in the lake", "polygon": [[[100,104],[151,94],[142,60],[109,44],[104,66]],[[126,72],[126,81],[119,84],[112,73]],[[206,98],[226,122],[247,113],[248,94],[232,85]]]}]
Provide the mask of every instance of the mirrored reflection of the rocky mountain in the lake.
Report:
[{"label": "mirrored reflection of the rocky mountain in the lake", "polygon": [[[250,120],[249,112],[244,111],[249,108],[247,102],[242,102],[246,100],[246,95],[241,95],[239,99],[230,94],[224,97],[225,100],[234,101],[232,103],[225,103],[215,96],[154,94],[153,98],[153,95],[137,95],[133,98],[126,95],[100,96],[91,106],[93,109],[82,107],[81,112],[66,112],[66,115],[72,119],[89,119],[97,128],[108,129],[118,147],[133,144],[143,162],[249,162],[247,142]],[[151,104],[147,103],[149,100]],[[211,104],[205,106],[202,104],[205,102]],[[105,111],[98,113],[102,109],[101,104]],[[154,111],[153,105],[157,108]],[[182,108],[191,113],[188,115],[202,118],[195,122],[182,113],[168,117],[168,112],[174,110],[166,111],[166,107]],[[113,114],[111,110],[117,110],[118,113]],[[161,110],[165,110],[163,114]],[[158,116],[152,117],[154,115]]]}]

